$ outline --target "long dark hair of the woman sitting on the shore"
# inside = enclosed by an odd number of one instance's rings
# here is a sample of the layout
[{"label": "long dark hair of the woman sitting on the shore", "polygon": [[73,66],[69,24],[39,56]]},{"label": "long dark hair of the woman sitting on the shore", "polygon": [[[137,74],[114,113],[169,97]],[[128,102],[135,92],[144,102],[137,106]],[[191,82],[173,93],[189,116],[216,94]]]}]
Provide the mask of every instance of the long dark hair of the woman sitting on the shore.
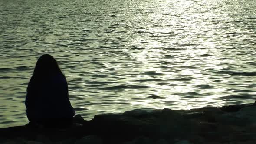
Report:
[{"label": "long dark hair of the woman sitting on the shore", "polygon": [[[33,75],[30,79],[27,90],[31,85],[36,85],[44,80],[49,79],[52,75],[63,75],[59,69],[57,61],[53,56],[49,54],[44,54],[36,62],[36,66]],[[64,76],[65,77],[65,76]]]}]

